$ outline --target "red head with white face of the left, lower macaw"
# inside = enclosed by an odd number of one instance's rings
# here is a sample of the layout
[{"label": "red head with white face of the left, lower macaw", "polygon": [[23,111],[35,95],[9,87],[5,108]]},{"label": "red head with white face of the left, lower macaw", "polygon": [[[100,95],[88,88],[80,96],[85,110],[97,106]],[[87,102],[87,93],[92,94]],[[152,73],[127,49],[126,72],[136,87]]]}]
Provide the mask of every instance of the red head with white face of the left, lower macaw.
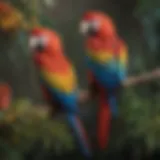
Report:
[{"label": "red head with white face of the left, lower macaw", "polygon": [[60,56],[62,44],[58,34],[46,28],[34,28],[30,32],[29,49],[37,62],[43,55],[50,58]]}]

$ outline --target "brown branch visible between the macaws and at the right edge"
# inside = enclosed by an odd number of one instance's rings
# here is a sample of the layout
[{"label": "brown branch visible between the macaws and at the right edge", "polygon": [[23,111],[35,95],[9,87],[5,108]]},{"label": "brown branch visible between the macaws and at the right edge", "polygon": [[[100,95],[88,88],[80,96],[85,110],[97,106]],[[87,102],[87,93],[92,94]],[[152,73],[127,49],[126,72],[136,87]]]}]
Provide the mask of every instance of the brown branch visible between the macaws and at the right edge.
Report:
[{"label": "brown branch visible between the macaws and at the right edge", "polygon": [[[143,73],[138,76],[130,76],[128,77],[122,84],[123,87],[131,87],[134,85],[147,83],[149,81],[159,79],[160,78],[160,68],[154,69],[151,72]],[[81,90],[79,92],[79,102],[84,103],[91,99],[91,93],[89,90]]]}]

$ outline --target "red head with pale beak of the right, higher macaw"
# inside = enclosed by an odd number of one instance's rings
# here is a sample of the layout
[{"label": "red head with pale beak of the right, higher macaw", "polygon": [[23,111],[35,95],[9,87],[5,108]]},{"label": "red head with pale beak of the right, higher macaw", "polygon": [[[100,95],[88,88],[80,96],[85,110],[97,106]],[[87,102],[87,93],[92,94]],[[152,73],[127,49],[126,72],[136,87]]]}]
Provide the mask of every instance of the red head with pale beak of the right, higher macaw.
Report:
[{"label": "red head with pale beak of the right, higher macaw", "polygon": [[116,28],[108,15],[98,11],[88,11],[80,22],[80,32],[87,37],[110,37],[116,34]]}]

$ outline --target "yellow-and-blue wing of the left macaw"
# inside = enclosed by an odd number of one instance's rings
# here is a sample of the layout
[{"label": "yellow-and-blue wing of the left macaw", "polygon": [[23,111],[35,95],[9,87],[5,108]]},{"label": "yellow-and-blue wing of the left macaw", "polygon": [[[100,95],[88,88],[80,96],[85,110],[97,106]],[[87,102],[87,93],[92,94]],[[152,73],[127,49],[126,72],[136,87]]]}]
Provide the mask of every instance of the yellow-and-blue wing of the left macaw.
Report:
[{"label": "yellow-and-blue wing of the left macaw", "polygon": [[69,74],[61,77],[61,75],[53,75],[44,71],[41,73],[41,83],[45,85],[51,97],[56,99],[63,109],[70,111],[77,110],[78,92],[73,82]]}]

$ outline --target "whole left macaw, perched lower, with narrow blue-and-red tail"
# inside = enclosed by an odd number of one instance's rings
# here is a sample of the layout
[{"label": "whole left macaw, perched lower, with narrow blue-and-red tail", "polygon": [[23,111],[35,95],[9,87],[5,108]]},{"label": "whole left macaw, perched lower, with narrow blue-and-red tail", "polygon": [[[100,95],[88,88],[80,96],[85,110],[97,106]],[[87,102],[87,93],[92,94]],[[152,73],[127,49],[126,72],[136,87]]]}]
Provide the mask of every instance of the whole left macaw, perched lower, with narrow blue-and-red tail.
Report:
[{"label": "whole left macaw, perched lower, with narrow blue-and-red tail", "polygon": [[86,157],[91,156],[86,133],[79,118],[75,70],[64,55],[58,33],[47,28],[34,28],[30,34],[29,46],[46,100],[66,114],[81,151]]}]

